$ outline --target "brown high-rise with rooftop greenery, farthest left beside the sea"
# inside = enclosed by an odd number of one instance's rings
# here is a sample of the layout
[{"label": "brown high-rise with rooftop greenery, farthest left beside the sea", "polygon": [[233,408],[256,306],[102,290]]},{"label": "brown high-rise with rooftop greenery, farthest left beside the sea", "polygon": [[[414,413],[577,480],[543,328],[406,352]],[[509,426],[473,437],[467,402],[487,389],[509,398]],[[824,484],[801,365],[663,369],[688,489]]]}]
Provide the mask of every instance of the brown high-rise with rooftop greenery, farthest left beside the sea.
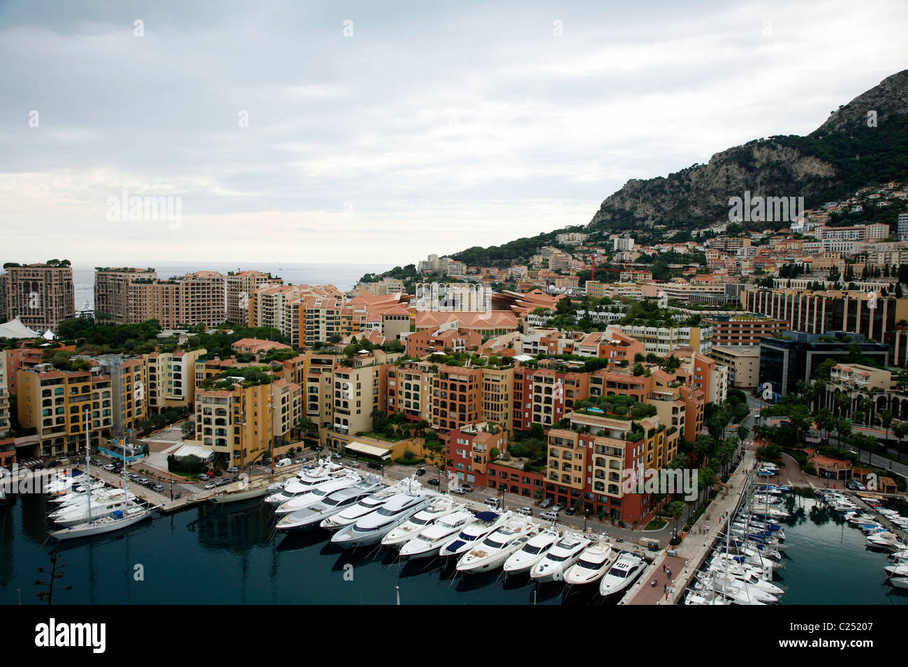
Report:
[{"label": "brown high-rise with rooftop greenery, farthest left beside the sea", "polygon": [[19,318],[29,329],[44,333],[55,331],[65,319],[73,319],[73,269],[68,261],[65,264],[7,265],[3,321]]}]

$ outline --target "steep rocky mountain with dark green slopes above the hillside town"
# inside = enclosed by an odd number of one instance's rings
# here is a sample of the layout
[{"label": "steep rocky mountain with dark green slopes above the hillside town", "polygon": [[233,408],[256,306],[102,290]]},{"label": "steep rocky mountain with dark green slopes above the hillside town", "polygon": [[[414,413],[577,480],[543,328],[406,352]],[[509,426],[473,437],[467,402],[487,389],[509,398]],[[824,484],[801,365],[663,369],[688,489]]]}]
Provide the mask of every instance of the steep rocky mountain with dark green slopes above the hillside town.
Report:
[{"label": "steep rocky mountain with dark green slopes above the hillside town", "polygon": [[718,152],[666,178],[627,181],[602,202],[589,231],[665,224],[694,229],[728,220],[729,199],[804,196],[810,208],[866,184],[908,174],[908,70],[840,106],[814,132]]}]

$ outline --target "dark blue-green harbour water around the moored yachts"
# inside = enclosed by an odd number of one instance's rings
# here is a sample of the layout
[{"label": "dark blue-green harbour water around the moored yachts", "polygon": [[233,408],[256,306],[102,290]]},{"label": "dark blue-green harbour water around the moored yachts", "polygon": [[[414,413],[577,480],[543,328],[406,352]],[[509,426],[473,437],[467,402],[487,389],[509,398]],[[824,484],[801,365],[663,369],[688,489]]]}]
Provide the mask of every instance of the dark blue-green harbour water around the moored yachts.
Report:
[{"label": "dark blue-green harbour water around the moored yachts", "polygon": [[[813,498],[788,501],[783,604],[904,604],[885,580],[886,554]],[[39,603],[37,568],[50,564],[48,501],[10,496],[0,508],[0,603]],[[903,509],[903,508],[900,508]],[[197,505],[114,535],[64,542],[54,603],[94,604],[613,604],[595,590],[534,585],[528,575],[461,577],[438,560],[400,564],[383,548],[344,551],[321,530],[275,535],[261,501]],[[140,568],[141,566],[141,568]],[[135,574],[141,569],[142,578]]]}]

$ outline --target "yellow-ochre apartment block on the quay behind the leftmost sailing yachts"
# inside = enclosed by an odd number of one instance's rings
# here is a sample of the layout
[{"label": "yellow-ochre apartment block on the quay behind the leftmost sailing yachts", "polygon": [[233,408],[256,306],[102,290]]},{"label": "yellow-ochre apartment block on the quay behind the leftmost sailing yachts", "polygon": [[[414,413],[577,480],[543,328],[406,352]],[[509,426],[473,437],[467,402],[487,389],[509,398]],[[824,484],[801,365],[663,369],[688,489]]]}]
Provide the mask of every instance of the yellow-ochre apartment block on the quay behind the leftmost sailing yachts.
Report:
[{"label": "yellow-ochre apartment block on the quay behind the leftmost sailing yachts", "polygon": [[65,456],[85,446],[85,417],[92,413],[92,446],[105,445],[147,416],[145,359],[104,355],[90,370],[58,370],[50,364],[17,373],[19,424],[35,428],[39,456]]}]

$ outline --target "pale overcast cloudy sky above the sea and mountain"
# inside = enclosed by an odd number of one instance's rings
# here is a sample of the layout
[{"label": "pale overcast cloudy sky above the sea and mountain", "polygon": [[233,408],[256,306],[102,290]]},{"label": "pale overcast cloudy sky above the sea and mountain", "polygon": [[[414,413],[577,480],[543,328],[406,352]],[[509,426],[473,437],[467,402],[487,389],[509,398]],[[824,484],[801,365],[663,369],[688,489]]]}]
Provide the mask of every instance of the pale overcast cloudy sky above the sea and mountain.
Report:
[{"label": "pale overcast cloudy sky above the sea and mountain", "polygon": [[403,264],[586,224],[811,132],[905,34],[899,0],[0,0],[0,260]]}]

